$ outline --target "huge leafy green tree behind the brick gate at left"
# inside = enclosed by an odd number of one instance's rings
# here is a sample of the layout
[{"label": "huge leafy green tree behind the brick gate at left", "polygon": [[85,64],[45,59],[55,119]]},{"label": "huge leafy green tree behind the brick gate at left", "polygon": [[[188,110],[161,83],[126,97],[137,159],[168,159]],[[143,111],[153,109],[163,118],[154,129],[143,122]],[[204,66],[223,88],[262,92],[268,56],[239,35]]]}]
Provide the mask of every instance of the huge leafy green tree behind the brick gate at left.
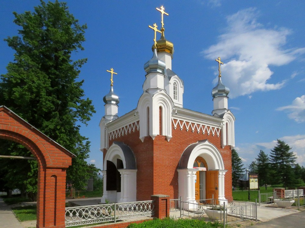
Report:
[{"label": "huge leafy green tree behind the brick gate at left", "polygon": [[[16,53],[14,61],[7,66],[7,73],[1,75],[0,105],[12,109],[77,155],[67,170],[67,178],[81,188],[92,174],[92,168],[84,160],[89,152],[88,139],[79,130],[95,110],[91,100],[84,98],[83,80],[78,79],[87,59],[73,60],[71,55],[84,50],[82,43],[87,26],[80,25],[69,13],[66,3],[57,0],[54,3],[41,0],[34,12],[13,14],[14,22],[21,28],[18,36],[5,39]],[[30,156],[20,145],[5,143],[2,154]],[[26,163],[30,171],[26,171],[27,177],[23,180],[27,181],[23,184],[27,191],[35,192],[31,187],[37,181],[37,164]],[[5,172],[12,174],[12,170],[8,168]]]}]

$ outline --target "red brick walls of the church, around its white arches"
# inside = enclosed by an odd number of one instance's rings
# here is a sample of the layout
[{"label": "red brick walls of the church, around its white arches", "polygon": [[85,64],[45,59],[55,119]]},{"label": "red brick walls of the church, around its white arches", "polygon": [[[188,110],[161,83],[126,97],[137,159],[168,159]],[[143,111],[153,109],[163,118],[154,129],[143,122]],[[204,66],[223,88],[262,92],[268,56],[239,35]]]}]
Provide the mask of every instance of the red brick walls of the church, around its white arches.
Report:
[{"label": "red brick walls of the church, around its white arches", "polygon": [[[187,123],[188,124],[188,123]],[[185,129],[174,129],[172,124],[172,138],[169,142],[165,136],[145,137],[144,143],[139,139],[139,131],[120,136],[109,142],[121,141],[133,150],[137,162],[137,200],[148,200],[150,195],[170,195],[170,199],[177,199],[178,195],[178,165],[181,154],[188,145],[199,140],[209,140],[220,151],[225,174],[225,197],[232,200],[231,184],[231,149],[229,146],[221,148],[221,135],[207,135],[192,133]],[[106,152],[106,151],[105,151]],[[106,153],[104,152],[104,158]],[[153,176],[152,176],[153,175]]]}]

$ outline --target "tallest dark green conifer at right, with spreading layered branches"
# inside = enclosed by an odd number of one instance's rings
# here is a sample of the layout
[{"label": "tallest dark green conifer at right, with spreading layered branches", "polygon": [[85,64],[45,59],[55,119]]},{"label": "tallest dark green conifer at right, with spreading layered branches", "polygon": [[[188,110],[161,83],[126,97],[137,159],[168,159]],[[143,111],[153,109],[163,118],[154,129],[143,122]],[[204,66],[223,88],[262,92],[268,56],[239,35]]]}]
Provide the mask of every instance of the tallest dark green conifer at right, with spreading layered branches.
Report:
[{"label": "tallest dark green conifer at right, with spreading layered branches", "polygon": [[271,150],[270,160],[272,168],[276,172],[275,177],[284,188],[294,183],[293,167],[296,156],[293,154],[291,147],[284,141],[277,140],[277,145]]}]

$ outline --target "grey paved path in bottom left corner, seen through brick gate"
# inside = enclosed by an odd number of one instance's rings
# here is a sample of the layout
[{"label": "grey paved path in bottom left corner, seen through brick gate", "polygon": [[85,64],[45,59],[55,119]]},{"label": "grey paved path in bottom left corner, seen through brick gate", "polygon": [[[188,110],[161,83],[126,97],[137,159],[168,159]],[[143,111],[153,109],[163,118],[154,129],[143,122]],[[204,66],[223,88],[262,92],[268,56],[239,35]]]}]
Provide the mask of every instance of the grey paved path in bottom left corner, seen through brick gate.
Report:
[{"label": "grey paved path in bottom left corner, seen through brick gate", "polygon": [[0,197],[0,228],[23,228],[11,208]]}]

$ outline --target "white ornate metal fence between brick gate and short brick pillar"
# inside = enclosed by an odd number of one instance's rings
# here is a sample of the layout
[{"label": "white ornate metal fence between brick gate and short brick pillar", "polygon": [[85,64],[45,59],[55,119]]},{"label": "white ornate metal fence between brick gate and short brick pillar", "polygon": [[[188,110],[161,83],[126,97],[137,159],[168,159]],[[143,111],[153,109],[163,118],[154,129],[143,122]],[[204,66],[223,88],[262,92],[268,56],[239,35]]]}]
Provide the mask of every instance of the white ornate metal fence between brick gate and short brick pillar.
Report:
[{"label": "white ornate metal fence between brick gate and short brick pillar", "polygon": [[153,201],[110,203],[92,206],[66,207],[66,227],[93,223],[116,223],[121,219],[153,215]]}]

